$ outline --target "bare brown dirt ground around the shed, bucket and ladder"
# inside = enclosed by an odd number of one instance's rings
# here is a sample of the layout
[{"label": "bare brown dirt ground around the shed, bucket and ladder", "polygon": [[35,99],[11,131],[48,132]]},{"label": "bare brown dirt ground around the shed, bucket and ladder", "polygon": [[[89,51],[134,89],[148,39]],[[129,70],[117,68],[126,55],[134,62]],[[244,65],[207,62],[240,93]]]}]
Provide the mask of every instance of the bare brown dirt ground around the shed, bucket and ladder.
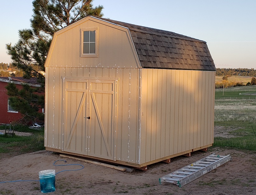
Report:
[{"label": "bare brown dirt ground around the shed, bucket and ladder", "polygon": [[[158,179],[212,153],[232,156],[232,161],[179,188],[172,183],[159,184]],[[56,191],[50,194],[256,194],[256,152],[209,148],[195,151],[191,157],[179,156],[170,164],[156,163],[147,171],[119,171],[77,160],[62,158],[58,153],[38,151],[13,157],[0,157],[0,182],[38,180],[38,171],[76,169],[78,166],[54,166],[55,160],[82,164],[84,169],[56,175]],[[61,164],[62,161],[58,162]],[[40,193],[39,182],[0,183],[0,194],[29,195]]]}]

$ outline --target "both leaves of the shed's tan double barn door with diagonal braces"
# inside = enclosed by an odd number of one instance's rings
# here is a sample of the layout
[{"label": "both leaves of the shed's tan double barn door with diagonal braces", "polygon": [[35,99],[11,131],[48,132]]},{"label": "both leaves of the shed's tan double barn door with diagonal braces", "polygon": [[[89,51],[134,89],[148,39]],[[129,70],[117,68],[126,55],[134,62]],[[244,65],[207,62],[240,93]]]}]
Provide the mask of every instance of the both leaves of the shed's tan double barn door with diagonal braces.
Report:
[{"label": "both leaves of the shed's tan double barn door with diagonal braces", "polygon": [[63,79],[63,151],[115,160],[115,82]]}]

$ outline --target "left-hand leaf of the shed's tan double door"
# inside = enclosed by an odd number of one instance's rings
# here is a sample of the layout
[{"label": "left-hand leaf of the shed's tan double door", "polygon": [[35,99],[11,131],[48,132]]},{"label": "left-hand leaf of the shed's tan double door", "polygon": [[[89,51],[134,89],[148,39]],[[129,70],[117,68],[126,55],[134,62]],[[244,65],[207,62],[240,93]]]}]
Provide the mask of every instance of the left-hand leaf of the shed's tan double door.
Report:
[{"label": "left-hand leaf of the shed's tan double door", "polygon": [[65,79],[64,151],[87,155],[89,80]]}]

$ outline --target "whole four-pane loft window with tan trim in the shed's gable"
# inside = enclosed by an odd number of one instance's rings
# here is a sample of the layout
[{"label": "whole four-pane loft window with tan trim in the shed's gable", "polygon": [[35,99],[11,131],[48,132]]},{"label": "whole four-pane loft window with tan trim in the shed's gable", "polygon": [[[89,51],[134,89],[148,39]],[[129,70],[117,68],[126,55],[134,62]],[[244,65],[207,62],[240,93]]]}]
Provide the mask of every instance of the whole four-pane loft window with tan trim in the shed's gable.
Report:
[{"label": "whole four-pane loft window with tan trim in the shed's gable", "polygon": [[86,28],[80,31],[80,57],[98,56],[98,28]]}]

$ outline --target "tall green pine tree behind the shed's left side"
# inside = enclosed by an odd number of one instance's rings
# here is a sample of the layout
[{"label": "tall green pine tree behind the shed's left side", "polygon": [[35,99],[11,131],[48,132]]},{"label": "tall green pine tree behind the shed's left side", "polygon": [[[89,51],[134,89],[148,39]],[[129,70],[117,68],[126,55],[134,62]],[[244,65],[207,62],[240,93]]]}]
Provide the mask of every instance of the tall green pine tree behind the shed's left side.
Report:
[{"label": "tall green pine tree behind the shed's left side", "polygon": [[[34,0],[33,15],[30,19],[31,29],[19,30],[19,40],[16,44],[6,44],[7,53],[11,56],[12,65],[24,72],[23,77],[37,78],[40,88],[30,89],[23,86],[19,91],[15,86],[7,86],[7,94],[13,109],[26,115],[30,119],[42,120],[42,116],[36,114],[40,108],[44,108],[45,77],[41,71],[45,71],[44,62],[51,44],[54,32],[87,16],[102,17],[103,6],[93,7],[93,0]],[[29,95],[28,95],[29,94]],[[29,99],[28,97],[33,97]],[[24,109],[26,108],[26,109]]]}]

